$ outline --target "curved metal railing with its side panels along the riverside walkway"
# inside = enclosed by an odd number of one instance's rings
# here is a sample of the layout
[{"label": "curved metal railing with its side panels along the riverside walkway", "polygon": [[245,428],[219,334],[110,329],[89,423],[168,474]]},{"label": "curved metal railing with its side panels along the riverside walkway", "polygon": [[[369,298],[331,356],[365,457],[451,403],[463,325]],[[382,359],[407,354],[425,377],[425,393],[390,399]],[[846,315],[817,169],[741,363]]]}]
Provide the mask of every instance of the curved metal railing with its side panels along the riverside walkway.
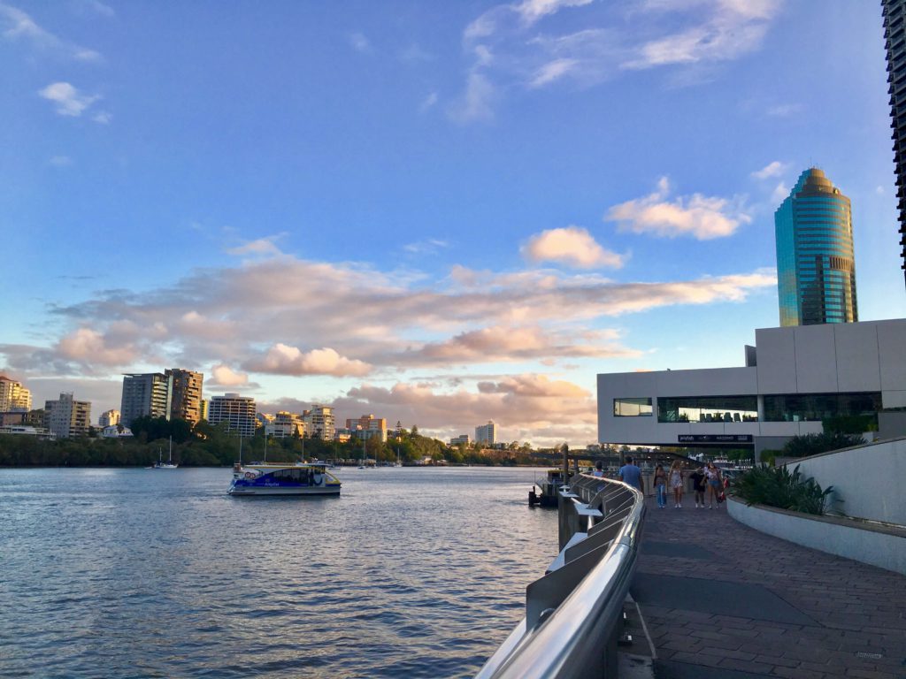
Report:
[{"label": "curved metal railing with its side panels along the riverside walkway", "polygon": [[616,676],[643,496],[590,474],[574,475],[559,494],[560,553],[526,589],[525,618],[477,679]]}]

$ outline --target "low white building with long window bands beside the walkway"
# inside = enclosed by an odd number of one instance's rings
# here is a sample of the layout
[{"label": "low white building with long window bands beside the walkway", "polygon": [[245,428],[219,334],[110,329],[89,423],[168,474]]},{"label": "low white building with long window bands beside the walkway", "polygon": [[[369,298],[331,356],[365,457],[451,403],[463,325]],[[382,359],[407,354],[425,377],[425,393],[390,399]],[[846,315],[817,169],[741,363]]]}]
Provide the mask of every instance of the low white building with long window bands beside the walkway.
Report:
[{"label": "low white building with long window bands beside the walkway", "polygon": [[598,439],[611,445],[779,450],[834,416],[906,432],[906,319],[756,330],[743,368],[598,375]]}]

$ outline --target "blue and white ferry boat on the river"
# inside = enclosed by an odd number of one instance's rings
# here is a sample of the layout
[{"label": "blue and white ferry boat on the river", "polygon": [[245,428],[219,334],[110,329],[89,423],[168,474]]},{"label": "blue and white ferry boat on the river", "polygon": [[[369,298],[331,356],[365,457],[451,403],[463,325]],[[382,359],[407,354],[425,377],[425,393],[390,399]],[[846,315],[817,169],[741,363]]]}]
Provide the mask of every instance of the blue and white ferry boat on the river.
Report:
[{"label": "blue and white ferry boat on the river", "polygon": [[230,495],[339,495],[340,479],[326,464],[249,463],[233,465]]}]

